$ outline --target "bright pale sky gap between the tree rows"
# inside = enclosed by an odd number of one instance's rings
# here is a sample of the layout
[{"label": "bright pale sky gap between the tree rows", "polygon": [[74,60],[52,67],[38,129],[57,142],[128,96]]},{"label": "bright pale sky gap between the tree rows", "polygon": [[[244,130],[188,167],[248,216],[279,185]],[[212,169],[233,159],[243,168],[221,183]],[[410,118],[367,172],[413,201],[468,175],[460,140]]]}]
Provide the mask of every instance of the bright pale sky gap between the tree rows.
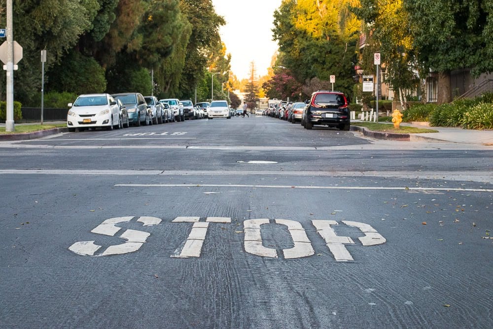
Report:
[{"label": "bright pale sky gap between the tree rows", "polygon": [[266,75],[278,45],[272,40],[274,10],[282,0],[212,0],[215,11],[226,25],[219,33],[231,53],[231,71],[238,79],[249,78],[250,62],[256,74]]}]

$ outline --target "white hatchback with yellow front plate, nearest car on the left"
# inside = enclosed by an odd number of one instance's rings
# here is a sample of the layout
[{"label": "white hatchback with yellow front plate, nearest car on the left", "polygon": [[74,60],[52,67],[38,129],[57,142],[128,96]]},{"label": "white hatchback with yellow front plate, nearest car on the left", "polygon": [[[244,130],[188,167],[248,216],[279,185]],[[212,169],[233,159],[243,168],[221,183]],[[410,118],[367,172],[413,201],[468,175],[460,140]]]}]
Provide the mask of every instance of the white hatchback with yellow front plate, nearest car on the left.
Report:
[{"label": "white hatchback with yellow front plate, nearest car on the left", "polygon": [[113,130],[122,128],[120,109],[115,99],[109,94],[80,95],[75,102],[69,103],[67,127],[70,132],[86,128],[104,127]]}]

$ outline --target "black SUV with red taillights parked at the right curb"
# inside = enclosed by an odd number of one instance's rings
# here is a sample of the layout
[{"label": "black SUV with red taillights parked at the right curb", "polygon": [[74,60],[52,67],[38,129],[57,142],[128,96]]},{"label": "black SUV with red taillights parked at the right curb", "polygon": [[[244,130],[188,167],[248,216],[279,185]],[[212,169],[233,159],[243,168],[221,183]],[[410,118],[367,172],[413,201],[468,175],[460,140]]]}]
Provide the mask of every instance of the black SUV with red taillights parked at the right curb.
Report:
[{"label": "black SUV with red taillights parked at the right curb", "polygon": [[348,100],[344,93],[318,90],[306,103],[307,106],[301,117],[301,124],[306,129],[312,129],[314,125],[325,125],[349,130],[351,120]]}]

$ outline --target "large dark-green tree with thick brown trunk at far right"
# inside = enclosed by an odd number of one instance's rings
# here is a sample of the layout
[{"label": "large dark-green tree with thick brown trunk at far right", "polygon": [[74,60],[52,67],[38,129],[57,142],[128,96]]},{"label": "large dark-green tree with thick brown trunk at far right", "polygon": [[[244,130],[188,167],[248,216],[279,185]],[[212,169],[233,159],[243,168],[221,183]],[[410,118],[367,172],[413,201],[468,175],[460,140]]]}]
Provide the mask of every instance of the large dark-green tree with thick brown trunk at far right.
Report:
[{"label": "large dark-green tree with thick brown trunk at far right", "polygon": [[483,0],[404,0],[422,75],[438,72],[438,103],[451,100],[450,72],[493,72],[493,4]]}]

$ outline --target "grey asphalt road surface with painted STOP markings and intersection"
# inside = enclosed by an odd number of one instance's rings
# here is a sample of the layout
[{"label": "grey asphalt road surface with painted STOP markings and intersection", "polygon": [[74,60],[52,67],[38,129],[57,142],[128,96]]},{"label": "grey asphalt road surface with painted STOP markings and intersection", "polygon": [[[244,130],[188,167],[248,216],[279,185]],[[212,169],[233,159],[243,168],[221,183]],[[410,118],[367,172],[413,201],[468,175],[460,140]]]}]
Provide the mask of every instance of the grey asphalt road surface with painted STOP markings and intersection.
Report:
[{"label": "grey asphalt road surface with painted STOP markings and intersection", "polygon": [[1,328],[491,328],[491,146],[252,115],[0,164]]}]

